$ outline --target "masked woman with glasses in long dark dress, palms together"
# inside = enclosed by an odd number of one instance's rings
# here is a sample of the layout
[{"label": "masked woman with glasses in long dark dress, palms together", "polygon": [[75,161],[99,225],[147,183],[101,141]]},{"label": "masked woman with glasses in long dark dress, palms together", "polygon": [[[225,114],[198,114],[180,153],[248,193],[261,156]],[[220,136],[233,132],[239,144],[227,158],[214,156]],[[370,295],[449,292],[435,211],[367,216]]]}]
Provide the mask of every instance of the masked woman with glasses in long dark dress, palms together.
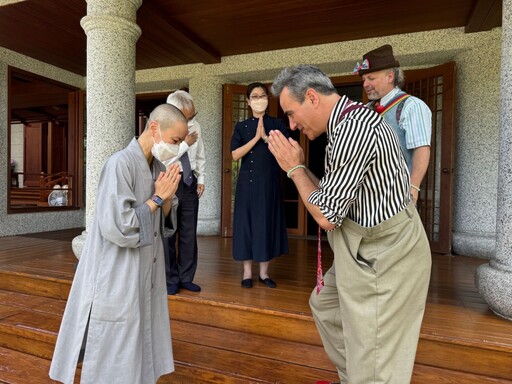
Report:
[{"label": "masked woman with glasses in long dark dress, palms together", "polygon": [[233,160],[242,159],[233,217],[233,258],[243,261],[242,287],[252,287],[252,262],[259,263],[259,280],[269,288],[270,260],[288,253],[281,198],[281,171],[267,146],[268,133],[278,129],[288,137],[281,119],[268,116],[268,90],[262,83],[247,87],[252,117],[238,122],[231,138]]}]

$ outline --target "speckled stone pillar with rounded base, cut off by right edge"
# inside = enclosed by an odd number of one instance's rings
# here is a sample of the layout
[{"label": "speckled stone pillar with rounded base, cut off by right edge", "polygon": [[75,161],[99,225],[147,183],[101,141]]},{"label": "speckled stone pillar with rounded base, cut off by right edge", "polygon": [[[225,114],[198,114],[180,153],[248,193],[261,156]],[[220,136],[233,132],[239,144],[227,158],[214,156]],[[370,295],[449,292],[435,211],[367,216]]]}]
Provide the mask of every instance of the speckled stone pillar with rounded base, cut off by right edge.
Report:
[{"label": "speckled stone pillar with rounded base, cut off by right edge", "polygon": [[512,1],[503,1],[496,254],[477,269],[478,290],[498,316],[512,320]]}]

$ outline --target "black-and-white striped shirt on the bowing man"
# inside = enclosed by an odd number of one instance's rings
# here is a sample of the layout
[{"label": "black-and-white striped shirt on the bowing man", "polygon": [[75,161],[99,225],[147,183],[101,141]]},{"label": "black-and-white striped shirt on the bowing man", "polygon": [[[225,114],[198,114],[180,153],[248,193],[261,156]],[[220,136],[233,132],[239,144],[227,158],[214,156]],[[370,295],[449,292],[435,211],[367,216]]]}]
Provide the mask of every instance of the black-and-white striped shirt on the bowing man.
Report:
[{"label": "black-and-white striped shirt on the bowing man", "polygon": [[325,174],[308,202],[336,226],[347,217],[368,228],[409,205],[410,176],[393,128],[366,107],[343,115],[350,105],[342,96],[329,117]]}]

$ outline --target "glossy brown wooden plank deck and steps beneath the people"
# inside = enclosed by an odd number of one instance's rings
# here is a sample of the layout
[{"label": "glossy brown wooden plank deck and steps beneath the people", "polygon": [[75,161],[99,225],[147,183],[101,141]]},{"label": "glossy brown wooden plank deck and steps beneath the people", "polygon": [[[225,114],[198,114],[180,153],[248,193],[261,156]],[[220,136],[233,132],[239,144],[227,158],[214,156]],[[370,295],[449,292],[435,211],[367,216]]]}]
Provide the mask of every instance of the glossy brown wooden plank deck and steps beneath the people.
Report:
[{"label": "glossy brown wooden plank deck and steps beneath the people", "polygon": [[[80,232],[0,238],[0,383],[52,382],[48,367],[76,265],[71,239]],[[323,251],[327,266],[326,243]],[[512,322],[492,313],[474,285],[485,260],[432,257],[413,383],[512,384]],[[159,383],[334,380],[308,306],[315,271],[316,241],[291,238],[290,253],[271,263],[278,287],[242,289],[231,240],[200,237],[202,291],[169,297],[176,372]]]}]

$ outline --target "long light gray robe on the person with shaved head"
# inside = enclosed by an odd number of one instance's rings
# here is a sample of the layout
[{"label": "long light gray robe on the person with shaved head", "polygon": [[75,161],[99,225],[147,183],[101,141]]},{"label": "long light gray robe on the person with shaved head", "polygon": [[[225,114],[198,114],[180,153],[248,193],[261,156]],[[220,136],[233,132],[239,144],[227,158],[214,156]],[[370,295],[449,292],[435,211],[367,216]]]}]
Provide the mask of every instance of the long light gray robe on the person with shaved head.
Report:
[{"label": "long light gray robe on the person with shaved head", "polygon": [[[145,203],[165,167],[152,169],[133,139],[101,172],[95,214],[75,273],[50,368],[73,383],[146,384],[174,370],[161,210]],[[87,321],[89,327],[87,329]]]}]

